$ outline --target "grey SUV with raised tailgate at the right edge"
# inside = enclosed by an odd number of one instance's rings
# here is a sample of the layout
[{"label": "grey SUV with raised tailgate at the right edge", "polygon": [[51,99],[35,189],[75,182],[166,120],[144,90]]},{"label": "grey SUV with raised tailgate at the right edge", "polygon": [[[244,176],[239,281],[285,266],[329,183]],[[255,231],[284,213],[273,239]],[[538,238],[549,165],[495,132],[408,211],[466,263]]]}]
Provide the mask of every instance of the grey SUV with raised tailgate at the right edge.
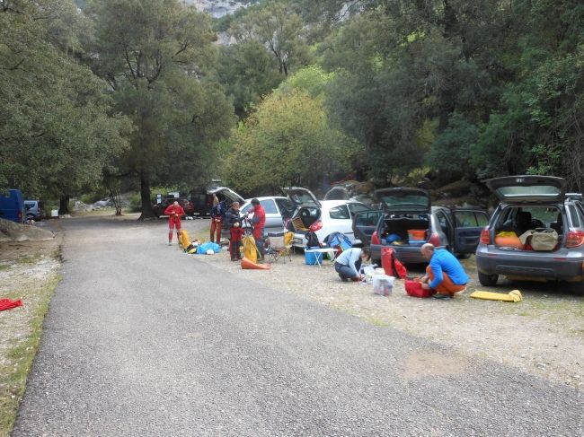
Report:
[{"label": "grey SUV with raised tailgate at the right edge", "polygon": [[[500,204],[484,228],[476,249],[482,285],[509,279],[568,281],[584,294],[584,201],[581,194],[565,194],[565,181],[553,176],[509,176],[486,180]],[[555,231],[552,250],[509,247],[500,232],[518,237],[530,230]]]}]

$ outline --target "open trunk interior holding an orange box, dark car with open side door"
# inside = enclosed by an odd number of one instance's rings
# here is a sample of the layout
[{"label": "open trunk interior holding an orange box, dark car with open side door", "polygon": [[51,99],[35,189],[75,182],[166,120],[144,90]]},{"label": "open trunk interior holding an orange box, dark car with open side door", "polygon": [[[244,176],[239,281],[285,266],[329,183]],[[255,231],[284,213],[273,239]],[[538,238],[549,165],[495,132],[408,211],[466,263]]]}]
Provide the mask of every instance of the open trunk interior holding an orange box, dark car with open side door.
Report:
[{"label": "open trunk interior holding an orange box, dark car with open side door", "polygon": [[428,214],[392,214],[384,219],[380,240],[392,246],[420,247],[429,239],[429,228]]}]

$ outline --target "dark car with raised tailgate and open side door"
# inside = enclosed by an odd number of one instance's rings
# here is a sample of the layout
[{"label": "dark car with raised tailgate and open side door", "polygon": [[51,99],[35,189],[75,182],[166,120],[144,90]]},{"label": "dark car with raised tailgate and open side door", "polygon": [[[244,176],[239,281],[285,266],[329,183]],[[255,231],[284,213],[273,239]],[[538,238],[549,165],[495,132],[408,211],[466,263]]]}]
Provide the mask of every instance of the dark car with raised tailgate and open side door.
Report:
[{"label": "dark car with raised tailgate and open side door", "polygon": [[[425,242],[457,255],[471,254],[489,221],[481,209],[432,206],[428,191],[420,188],[378,189],[375,197],[382,209],[357,214],[353,229],[376,261],[388,246],[403,263],[428,262],[420,254]],[[420,235],[416,240],[410,238],[414,232]]]}]

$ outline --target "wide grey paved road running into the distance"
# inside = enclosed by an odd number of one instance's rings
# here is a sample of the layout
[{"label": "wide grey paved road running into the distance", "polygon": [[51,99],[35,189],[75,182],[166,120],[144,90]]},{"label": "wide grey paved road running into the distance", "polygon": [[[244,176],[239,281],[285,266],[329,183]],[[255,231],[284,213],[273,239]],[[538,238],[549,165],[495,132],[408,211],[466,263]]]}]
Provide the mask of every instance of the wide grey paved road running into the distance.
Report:
[{"label": "wide grey paved road running into the distance", "polygon": [[259,286],[163,221],[63,227],[13,436],[584,433],[580,390]]}]

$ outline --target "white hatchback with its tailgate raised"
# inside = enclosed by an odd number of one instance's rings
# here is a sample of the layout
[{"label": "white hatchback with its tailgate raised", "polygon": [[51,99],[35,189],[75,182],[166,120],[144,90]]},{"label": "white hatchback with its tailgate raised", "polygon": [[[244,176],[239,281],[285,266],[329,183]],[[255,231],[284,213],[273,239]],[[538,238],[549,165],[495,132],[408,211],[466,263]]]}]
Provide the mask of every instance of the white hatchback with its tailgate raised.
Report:
[{"label": "white hatchback with its tailgate raised", "polygon": [[294,231],[292,245],[304,249],[305,234],[313,226],[319,241],[326,240],[332,232],[344,233],[353,244],[360,244],[352,229],[355,214],[369,211],[371,208],[355,200],[317,200],[314,194],[305,188],[287,187],[282,190],[288,199],[296,205],[296,211],[290,221]]}]

